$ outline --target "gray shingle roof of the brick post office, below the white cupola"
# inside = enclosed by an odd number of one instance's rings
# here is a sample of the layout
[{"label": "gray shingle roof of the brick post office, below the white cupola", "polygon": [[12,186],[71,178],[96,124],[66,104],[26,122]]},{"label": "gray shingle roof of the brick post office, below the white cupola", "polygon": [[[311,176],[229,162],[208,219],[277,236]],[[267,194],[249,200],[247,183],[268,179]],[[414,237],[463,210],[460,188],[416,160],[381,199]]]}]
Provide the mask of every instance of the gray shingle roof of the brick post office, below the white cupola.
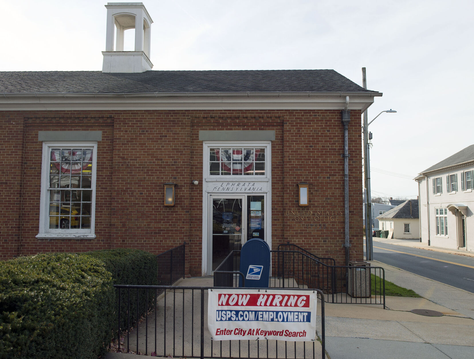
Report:
[{"label": "gray shingle roof of the brick post office, below the white cupola", "polygon": [[0,94],[373,92],[334,70],[0,72]]}]

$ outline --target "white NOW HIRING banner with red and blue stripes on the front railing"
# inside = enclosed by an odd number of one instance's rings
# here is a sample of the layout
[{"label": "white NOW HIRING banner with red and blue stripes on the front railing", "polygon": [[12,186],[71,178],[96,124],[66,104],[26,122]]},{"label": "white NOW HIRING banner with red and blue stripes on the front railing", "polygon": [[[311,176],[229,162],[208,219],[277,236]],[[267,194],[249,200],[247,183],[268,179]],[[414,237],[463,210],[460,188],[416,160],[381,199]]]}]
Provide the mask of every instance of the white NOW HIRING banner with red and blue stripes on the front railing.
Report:
[{"label": "white NOW HIRING banner with red and blue stripes on the front railing", "polygon": [[270,289],[210,289],[213,340],[316,340],[317,293]]}]

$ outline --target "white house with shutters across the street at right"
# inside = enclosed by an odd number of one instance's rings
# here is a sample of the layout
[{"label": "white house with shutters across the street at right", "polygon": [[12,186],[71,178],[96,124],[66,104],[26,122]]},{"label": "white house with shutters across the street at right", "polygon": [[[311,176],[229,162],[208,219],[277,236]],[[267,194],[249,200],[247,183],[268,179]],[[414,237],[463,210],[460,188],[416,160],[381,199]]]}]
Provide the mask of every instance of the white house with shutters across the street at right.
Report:
[{"label": "white house with shutters across the street at right", "polygon": [[474,145],[419,173],[421,242],[474,251]]}]

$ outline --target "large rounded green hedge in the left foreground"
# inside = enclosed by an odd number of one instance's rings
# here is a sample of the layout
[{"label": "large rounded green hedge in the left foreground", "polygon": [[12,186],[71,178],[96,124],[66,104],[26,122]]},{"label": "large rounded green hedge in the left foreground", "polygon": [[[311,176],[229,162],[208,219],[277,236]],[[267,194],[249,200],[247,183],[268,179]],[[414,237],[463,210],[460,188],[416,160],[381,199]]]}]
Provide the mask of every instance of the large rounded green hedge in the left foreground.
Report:
[{"label": "large rounded green hedge in the left foreground", "polygon": [[0,357],[97,358],[110,342],[114,299],[110,273],[91,256],[0,262]]}]

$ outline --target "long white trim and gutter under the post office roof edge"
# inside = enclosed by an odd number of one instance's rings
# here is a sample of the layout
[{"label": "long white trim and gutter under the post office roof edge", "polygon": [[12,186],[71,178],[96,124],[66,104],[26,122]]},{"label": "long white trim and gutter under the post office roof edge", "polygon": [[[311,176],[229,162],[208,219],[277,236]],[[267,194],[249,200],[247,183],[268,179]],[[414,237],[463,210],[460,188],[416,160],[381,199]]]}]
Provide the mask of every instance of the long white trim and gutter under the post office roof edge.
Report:
[{"label": "long white trim and gutter under the post office roof edge", "polygon": [[0,94],[0,111],[37,110],[349,110],[365,111],[382,93],[246,92]]}]

